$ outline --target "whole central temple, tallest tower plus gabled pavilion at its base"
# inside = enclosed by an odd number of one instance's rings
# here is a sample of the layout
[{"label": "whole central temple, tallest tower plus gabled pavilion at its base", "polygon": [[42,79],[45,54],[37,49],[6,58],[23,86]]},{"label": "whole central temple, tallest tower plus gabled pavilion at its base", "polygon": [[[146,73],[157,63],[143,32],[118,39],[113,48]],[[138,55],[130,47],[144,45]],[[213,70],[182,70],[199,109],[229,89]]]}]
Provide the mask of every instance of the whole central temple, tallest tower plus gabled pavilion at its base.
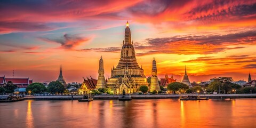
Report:
[{"label": "whole central temple, tallest tower plus gabled pavilion at its base", "polygon": [[127,21],[121,58],[116,68],[113,67],[111,69],[111,77],[108,79],[107,86],[114,93],[122,93],[122,91],[120,92],[122,89],[125,89],[126,93],[133,93],[139,91],[141,85],[148,86],[147,78],[144,75],[142,67],[139,67],[135,57],[133,41],[131,40],[131,30]]}]

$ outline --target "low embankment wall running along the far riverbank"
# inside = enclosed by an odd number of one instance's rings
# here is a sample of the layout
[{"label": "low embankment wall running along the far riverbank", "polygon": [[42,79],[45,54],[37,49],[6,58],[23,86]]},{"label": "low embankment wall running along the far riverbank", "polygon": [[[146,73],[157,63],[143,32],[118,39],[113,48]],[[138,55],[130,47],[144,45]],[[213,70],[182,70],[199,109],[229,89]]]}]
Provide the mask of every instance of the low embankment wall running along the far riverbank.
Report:
[{"label": "low embankment wall running along the far riverbank", "polygon": [[[178,99],[185,94],[132,94],[132,99]],[[187,95],[187,94],[186,94]],[[188,94],[196,96],[197,94]],[[93,99],[118,99],[119,95],[94,95]],[[199,94],[200,97],[210,99],[221,98],[256,98],[256,94]],[[83,95],[26,95],[25,100],[77,100],[82,99]]]}]

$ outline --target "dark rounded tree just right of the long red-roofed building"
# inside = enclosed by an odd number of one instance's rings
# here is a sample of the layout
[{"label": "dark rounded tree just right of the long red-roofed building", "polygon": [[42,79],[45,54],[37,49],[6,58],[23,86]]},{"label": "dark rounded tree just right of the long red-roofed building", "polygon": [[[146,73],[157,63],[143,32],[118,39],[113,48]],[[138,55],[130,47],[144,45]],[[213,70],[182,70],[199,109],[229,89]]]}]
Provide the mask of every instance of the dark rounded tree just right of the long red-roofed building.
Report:
[{"label": "dark rounded tree just right of the long red-roofed building", "polygon": [[36,93],[47,92],[47,89],[42,83],[32,83],[28,85],[26,91],[27,92],[31,91],[31,93],[36,94]]}]

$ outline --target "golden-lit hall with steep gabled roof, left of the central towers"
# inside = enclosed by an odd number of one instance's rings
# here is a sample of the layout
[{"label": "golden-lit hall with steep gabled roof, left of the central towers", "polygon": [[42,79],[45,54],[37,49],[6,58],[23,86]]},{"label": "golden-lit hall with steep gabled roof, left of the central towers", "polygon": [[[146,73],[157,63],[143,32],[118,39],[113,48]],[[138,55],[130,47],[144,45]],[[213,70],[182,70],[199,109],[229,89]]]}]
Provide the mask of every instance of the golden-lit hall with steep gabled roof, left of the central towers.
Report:
[{"label": "golden-lit hall with steep gabled roof, left of the central towers", "polygon": [[[83,77],[84,78],[84,77]],[[87,77],[87,80],[84,78],[84,82],[81,85],[80,89],[78,90],[79,94],[88,94],[90,91],[94,90],[97,86],[97,79],[94,79],[91,77],[89,79]]]}]

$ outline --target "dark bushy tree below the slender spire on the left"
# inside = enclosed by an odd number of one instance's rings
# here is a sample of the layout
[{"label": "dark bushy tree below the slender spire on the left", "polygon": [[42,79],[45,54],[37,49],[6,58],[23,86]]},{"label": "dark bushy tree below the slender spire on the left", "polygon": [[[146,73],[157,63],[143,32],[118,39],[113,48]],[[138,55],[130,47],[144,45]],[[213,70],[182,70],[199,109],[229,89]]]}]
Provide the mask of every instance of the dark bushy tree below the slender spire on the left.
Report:
[{"label": "dark bushy tree below the slender spire on the left", "polygon": [[58,81],[50,82],[47,89],[50,93],[53,93],[53,94],[63,93],[66,90],[65,86]]}]

